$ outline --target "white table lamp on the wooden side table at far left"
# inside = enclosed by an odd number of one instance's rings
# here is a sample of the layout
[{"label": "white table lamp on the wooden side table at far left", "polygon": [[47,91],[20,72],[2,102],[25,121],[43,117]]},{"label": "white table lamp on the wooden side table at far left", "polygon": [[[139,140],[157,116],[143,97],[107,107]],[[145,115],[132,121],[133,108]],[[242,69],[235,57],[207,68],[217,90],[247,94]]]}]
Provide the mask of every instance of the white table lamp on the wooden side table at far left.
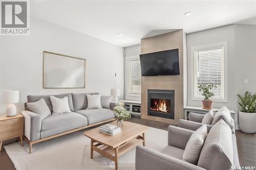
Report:
[{"label": "white table lamp on the wooden side table at far left", "polygon": [[17,113],[16,106],[13,103],[18,103],[19,91],[18,90],[4,90],[3,102],[7,103],[7,116],[15,116]]}]

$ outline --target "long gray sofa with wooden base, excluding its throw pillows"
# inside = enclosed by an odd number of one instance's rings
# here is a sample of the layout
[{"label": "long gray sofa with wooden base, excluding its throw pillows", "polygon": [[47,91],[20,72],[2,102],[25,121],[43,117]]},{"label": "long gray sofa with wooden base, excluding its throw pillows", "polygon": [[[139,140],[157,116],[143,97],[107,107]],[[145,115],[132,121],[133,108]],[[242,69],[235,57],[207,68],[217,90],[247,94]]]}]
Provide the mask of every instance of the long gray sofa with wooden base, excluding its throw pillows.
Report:
[{"label": "long gray sofa with wooden base, excluding its throw pillows", "polygon": [[[25,120],[24,135],[29,140],[30,153],[32,144],[35,144],[37,142],[115,120],[115,114],[112,109],[115,107],[117,102],[110,103],[111,109],[86,109],[86,93],[67,93],[54,96],[56,98],[63,98],[67,96],[71,112],[62,114],[51,114],[45,119],[41,120],[40,115],[29,111],[25,104],[26,111],[22,112]],[[47,106],[52,113],[53,111],[50,95],[27,96],[28,103],[36,102],[40,99],[45,100]]]}]

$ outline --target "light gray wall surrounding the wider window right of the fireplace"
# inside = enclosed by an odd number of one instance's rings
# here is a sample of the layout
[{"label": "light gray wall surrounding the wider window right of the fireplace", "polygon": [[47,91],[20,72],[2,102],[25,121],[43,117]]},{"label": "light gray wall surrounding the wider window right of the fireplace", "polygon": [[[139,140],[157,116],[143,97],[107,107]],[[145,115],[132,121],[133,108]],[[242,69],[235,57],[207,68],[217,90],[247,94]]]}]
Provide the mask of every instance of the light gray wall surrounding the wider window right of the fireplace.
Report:
[{"label": "light gray wall surrounding the wider window right of the fireplace", "polygon": [[[256,90],[256,26],[252,25],[229,25],[187,34],[187,105],[202,106],[201,101],[191,100],[191,46],[221,41],[228,43],[228,102],[214,102],[212,107],[225,105],[238,113],[237,93]],[[244,79],[249,79],[248,85],[243,84]]]}]

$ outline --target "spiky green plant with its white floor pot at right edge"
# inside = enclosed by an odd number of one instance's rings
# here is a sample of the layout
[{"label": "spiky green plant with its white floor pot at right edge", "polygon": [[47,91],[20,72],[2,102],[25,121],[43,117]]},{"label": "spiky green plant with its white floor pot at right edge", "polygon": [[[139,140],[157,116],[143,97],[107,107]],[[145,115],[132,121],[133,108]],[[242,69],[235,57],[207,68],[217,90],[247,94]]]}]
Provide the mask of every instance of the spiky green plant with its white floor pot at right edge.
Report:
[{"label": "spiky green plant with its white floor pot at right edge", "polygon": [[242,132],[256,132],[256,94],[246,91],[244,95],[237,94],[241,102],[239,111],[239,126]]}]

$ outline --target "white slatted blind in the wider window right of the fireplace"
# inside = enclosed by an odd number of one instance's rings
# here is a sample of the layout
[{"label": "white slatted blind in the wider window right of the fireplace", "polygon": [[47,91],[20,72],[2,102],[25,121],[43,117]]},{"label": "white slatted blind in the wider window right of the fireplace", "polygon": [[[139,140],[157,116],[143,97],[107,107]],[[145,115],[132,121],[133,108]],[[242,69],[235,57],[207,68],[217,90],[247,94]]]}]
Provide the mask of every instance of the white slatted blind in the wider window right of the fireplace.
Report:
[{"label": "white slatted blind in the wider window right of the fireplace", "polygon": [[211,99],[224,100],[224,46],[195,50],[194,71],[194,98],[202,98],[198,85],[213,84]]}]

